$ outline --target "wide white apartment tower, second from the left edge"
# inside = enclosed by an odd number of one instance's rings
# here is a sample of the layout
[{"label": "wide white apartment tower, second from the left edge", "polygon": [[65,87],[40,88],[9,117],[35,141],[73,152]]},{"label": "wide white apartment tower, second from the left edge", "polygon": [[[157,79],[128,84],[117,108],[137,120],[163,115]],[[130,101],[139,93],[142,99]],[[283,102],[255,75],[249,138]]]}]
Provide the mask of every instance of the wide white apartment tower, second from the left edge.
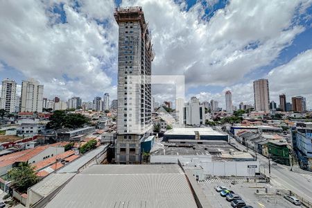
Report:
[{"label": "wide white apartment tower, second from the left edge", "polygon": [[42,112],[44,85],[33,78],[21,81],[21,112]]}]

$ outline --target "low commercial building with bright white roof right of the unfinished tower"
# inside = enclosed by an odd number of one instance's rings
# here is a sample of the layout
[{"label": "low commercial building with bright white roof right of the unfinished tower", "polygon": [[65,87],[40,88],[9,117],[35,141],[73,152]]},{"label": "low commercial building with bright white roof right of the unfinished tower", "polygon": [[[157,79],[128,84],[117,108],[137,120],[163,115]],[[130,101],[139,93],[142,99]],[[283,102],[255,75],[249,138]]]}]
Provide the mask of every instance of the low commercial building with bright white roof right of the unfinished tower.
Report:
[{"label": "low commercial building with bright white roof right of the unfinished tower", "polygon": [[228,136],[213,130],[212,128],[173,128],[164,133],[163,141],[173,140],[222,140],[227,141]]}]

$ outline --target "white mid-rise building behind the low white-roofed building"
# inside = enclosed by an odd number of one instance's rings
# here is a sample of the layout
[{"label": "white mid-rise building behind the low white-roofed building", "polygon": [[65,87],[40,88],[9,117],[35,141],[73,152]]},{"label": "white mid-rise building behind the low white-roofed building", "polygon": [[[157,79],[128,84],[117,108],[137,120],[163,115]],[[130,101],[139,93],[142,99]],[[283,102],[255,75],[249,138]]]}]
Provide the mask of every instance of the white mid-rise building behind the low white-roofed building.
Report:
[{"label": "white mid-rise building behind the low white-roofed building", "polygon": [[184,105],[183,123],[184,125],[205,124],[205,107],[200,104],[198,98],[191,97],[191,101]]}]

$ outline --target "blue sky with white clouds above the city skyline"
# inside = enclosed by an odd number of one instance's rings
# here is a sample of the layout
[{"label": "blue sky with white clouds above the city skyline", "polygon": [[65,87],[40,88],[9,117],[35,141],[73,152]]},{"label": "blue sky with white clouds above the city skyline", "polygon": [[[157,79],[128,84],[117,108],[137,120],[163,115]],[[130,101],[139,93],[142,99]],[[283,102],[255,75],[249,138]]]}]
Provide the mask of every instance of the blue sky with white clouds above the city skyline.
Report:
[{"label": "blue sky with white clouds above the city skyline", "polygon": [[[35,78],[44,96],[116,98],[114,8],[142,6],[152,35],[153,75],[185,77],[185,96],[253,104],[268,78],[270,100],[306,97],[312,109],[312,0],[0,1],[0,79]],[[152,86],[162,103],[172,85]]]}]

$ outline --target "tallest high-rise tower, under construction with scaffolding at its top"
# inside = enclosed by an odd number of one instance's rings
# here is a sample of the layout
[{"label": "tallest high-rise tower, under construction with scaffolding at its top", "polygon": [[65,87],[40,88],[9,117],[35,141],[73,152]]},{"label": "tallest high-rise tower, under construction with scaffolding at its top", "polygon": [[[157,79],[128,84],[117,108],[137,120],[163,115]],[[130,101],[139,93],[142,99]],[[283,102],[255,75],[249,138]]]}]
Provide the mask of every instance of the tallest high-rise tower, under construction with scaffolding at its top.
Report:
[{"label": "tallest high-rise tower, under construction with scaffolding at its top", "polygon": [[119,25],[116,162],[139,163],[140,140],[152,130],[153,44],[141,7],[117,8],[114,17]]}]

